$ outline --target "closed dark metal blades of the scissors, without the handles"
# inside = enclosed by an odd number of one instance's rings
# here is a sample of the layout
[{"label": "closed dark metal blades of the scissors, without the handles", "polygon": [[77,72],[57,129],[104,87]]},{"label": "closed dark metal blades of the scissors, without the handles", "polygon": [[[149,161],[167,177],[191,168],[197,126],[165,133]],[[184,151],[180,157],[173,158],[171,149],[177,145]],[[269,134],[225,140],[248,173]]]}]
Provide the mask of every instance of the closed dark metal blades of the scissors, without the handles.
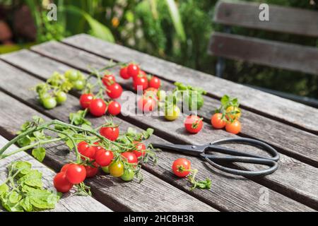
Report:
[{"label": "closed dark metal blades of the scissors, without the handles", "polygon": [[172,150],[179,153],[184,153],[187,155],[199,156],[204,153],[206,145],[182,145],[182,144],[160,144],[152,143],[153,148],[160,148],[162,150]]}]

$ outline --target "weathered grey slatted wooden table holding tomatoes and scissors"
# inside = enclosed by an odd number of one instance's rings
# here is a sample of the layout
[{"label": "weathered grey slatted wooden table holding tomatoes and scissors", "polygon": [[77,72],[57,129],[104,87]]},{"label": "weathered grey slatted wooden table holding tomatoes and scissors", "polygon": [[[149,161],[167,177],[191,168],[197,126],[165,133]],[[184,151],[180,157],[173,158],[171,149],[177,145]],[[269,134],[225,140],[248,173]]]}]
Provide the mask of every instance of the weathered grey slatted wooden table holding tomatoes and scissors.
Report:
[{"label": "weathered grey slatted wooden table holding tomatoes and scissors", "polygon": [[[318,210],[318,109],[187,69],[89,35],[76,35],[62,42],[47,42],[30,50],[2,55],[0,59],[0,135],[6,139],[13,138],[20,125],[33,115],[68,121],[69,113],[79,109],[80,94],[73,92],[66,104],[49,111],[37,103],[35,93],[29,88],[45,81],[52,72],[64,73],[73,68],[88,73],[88,66],[100,69],[109,64],[110,60],[136,61],[147,73],[162,78],[163,89],[172,90],[172,83],[179,81],[207,90],[204,107],[199,111],[199,115],[204,118],[204,129],[199,134],[189,136],[183,129],[184,116],[177,121],[168,122],[162,117],[122,115],[115,121],[121,124],[123,130],[129,126],[140,129],[152,127],[155,135],[149,142],[156,143],[199,144],[237,137],[223,130],[212,129],[209,122],[212,112],[220,105],[220,97],[228,94],[238,97],[242,104],[243,127],[238,136],[266,141],[281,153],[278,170],[266,177],[256,178],[225,174],[208,167],[199,158],[187,156],[192,161],[192,166],[199,169],[199,179],[210,177],[212,180],[211,190],[189,191],[186,180],[173,177],[170,170],[173,160],[182,155],[163,150],[158,153],[157,166],[143,165],[144,180],[141,184],[123,183],[119,179],[101,174],[87,180],[95,199],[76,197],[73,198],[76,199],[74,205],[86,203],[82,206],[84,209],[101,211]],[[111,71],[117,76],[119,68]],[[125,90],[131,90],[131,81],[124,81],[119,76],[117,81]],[[104,119],[90,118],[90,121],[93,125],[100,125]],[[52,145],[47,150],[44,164],[57,172],[61,165],[73,157],[66,150],[63,145]],[[20,157],[30,159],[26,155]],[[0,162],[1,167],[4,163]],[[52,172],[45,170],[52,177]],[[73,200],[66,197],[63,202],[68,206]]]}]

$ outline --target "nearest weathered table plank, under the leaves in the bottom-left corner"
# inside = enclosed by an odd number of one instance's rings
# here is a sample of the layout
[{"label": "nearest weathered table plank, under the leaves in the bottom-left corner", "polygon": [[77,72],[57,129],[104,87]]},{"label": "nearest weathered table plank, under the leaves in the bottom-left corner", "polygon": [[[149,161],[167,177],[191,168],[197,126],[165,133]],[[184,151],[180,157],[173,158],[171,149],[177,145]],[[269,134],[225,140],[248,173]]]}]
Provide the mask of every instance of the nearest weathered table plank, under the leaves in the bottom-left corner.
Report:
[{"label": "nearest weathered table plank, under the leaves in the bottom-left corner", "polygon": [[[3,147],[8,140],[0,136],[0,147]],[[16,150],[18,147],[11,146],[8,148],[10,153],[13,150]],[[54,191],[53,178],[55,172],[52,169],[49,169],[40,162],[37,162],[33,157],[28,155],[25,152],[17,153],[16,155],[11,155],[0,161],[0,184],[4,182],[7,177],[7,167],[11,162],[15,161],[28,161],[32,164],[33,169],[37,169],[42,172],[42,179],[46,189]],[[0,208],[1,211],[1,208]],[[110,212],[110,208],[102,205],[92,197],[88,196],[70,196],[70,194],[64,195],[59,203],[55,206],[53,210],[48,210],[49,212]]]}]

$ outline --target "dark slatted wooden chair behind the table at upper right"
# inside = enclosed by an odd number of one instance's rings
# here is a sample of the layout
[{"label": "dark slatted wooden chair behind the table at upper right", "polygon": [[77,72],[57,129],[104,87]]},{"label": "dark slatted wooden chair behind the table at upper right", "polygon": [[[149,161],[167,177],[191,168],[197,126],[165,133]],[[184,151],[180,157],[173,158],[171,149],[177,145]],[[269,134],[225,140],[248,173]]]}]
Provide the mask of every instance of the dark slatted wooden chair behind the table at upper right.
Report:
[{"label": "dark slatted wooden chair behind the table at upper right", "polygon": [[[216,76],[223,75],[223,58],[318,75],[318,49],[315,47],[230,34],[230,26],[240,26],[318,37],[318,12],[271,5],[269,21],[261,21],[259,6],[260,4],[245,2],[218,1],[213,20],[225,25],[225,32],[214,32],[208,48],[210,54],[218,57]],[[318,107],[318,100],[313,98],[258,89]]]}]

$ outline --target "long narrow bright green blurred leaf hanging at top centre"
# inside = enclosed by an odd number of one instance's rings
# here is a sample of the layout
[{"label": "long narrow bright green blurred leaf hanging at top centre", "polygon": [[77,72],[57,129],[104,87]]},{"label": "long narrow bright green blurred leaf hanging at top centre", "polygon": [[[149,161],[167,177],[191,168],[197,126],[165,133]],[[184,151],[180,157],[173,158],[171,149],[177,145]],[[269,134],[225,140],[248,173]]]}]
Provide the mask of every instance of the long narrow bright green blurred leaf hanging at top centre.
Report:
[{"label": "long narrow bright green blurred leaf hanging at top centre", "polygon": [[175,26],[177,35],[182,40],[182,42],[185,42],[187,38],[184,32],[183,23],[179,14],[179,10],[177,8],[177,4],[175,3],[175,0],[165,0],[165,2],[169,8],[170,16],[172,18],[172,23]]}]

